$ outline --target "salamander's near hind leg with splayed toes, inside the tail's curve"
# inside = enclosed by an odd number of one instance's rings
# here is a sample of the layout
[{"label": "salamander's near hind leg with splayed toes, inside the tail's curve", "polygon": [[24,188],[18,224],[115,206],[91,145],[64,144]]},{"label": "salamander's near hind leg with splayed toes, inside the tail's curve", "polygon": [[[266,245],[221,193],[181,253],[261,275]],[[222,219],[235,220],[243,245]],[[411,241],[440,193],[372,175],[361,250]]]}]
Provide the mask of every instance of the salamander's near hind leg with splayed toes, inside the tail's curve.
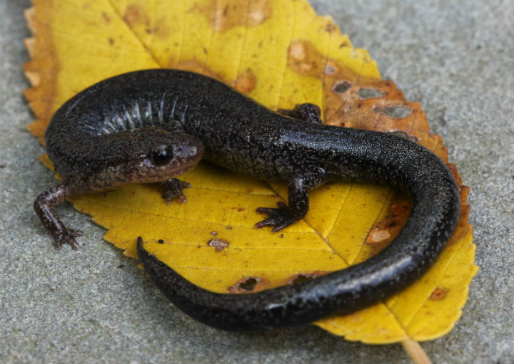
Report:
[{"label": "salamander's near hind leg with splayed toes, inside the tail's curve", "polygon": [[258,207],[259,214],[267,214],[268,219],[256,223],[257,228],[273,227],[273,232],[303,219],[308,212],[308,190],[321,186],[327,181],[326,171],[321,167],[307,166],[293,177],[288,186],[289,206],[278,202],[278,208]]}]

